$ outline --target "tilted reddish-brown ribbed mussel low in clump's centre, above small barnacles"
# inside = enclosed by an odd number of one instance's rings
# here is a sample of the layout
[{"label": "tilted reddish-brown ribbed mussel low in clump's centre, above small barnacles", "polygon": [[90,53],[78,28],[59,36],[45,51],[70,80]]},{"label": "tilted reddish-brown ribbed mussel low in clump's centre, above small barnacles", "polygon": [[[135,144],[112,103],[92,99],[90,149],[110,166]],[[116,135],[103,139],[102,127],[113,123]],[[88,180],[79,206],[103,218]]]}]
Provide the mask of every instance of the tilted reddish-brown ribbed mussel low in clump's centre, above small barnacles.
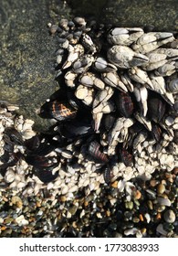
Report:
[{"label": "tilted reddish-brown ribbed mussel low in clump's centre, above small barnacles", "polygon": [[100,163],[107,163],[109,161],[108,156],[102,153],[99,148],[100,144],[97,141],[90,142],[88,148],[89,155],[98,160]]}]

